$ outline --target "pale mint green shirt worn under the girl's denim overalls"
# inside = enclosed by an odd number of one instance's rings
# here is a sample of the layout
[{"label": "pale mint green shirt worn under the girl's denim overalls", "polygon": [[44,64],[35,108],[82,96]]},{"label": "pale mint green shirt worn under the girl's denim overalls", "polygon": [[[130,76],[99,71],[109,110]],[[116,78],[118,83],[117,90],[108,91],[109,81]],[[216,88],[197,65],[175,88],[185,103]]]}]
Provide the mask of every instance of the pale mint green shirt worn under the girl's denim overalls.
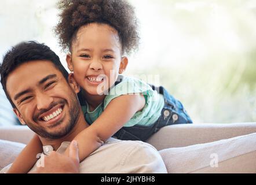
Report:
[{"label": "pale mint green shirt worn under the girl's denim overalls", "polygon": [[145,97],[145,106],[141,111],[134,114],[134,116],[125,123],[124,127],[131,127],[136,124],[146,126],[155,123],[155,121],[160,117],[164,106],[163,95],[152,90],[151,86],[142,82],[140,79],[122,75],[120,76],[122,77],[122,82],[109,90],[108,95],[104,98],[104,102],[98,105],[95,110],[90,112],[87,102],[81,103],[83,104],[82,110],[87,123],[92,124],[100,114],[103,113],[104,109],[112,99],[119,97],[120,95],[139,93],[143,94]]}]

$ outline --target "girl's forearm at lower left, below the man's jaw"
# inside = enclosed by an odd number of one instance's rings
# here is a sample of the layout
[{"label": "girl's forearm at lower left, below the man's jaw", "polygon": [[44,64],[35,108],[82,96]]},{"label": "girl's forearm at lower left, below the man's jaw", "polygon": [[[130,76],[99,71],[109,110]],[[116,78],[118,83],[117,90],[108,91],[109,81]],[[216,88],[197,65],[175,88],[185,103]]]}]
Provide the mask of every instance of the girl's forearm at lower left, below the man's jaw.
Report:
[{"label": "girl's forearm at lower left, below the man's jaw", "polygon": [[36,155],[42,153],[42,143],[38,135],[35,134],[28,145],[21,151],[13,162],[7,173],[27,173],[38,160]]}]

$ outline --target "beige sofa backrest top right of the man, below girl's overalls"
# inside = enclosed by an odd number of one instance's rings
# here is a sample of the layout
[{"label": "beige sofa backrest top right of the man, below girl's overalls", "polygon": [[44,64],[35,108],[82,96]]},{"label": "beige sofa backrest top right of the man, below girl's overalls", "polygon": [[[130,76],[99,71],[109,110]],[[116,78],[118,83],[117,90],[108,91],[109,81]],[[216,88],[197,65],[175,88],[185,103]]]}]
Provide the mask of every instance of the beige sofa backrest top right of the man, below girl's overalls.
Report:
[{"label": "beige sofa backrest top right of the man, below girl's overalls", "polygon": [[161,128],[147,142],[157,150],[184,147],[256,132],[256,123],[177,124]]}]

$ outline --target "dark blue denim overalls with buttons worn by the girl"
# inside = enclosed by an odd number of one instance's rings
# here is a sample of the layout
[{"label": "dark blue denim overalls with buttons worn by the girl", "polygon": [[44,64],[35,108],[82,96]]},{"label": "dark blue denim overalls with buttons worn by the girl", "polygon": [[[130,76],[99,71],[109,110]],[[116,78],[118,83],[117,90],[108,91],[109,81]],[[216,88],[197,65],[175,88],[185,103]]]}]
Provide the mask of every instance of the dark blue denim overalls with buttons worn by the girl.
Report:
[{"label": "dark blue denim overalls with buttons worn by the girl", "polygon": [[[120,82],[122,82],[122,79],[118,80],[115,83],[115,86]],[[150,136],[155,134],[155,132],[159,131],[160,128],[166,125],[192,123],[192,120],[188,113],[186,113],[182,103],[170,95],[164,87],[155,87],[151,84],[149,84],[149,86],[151,86],[153,90],[158,91],[158,93],[162,94],[164,97],[164,106],[159,119],[149,126],[134,125],[132,127],[122,127],[118,132],[116,132],[116,134],[113,135],[114,138],[120,140],[145,141]],[[78,97],[79,99],[84,100],[84,98],[79,94]]]}]

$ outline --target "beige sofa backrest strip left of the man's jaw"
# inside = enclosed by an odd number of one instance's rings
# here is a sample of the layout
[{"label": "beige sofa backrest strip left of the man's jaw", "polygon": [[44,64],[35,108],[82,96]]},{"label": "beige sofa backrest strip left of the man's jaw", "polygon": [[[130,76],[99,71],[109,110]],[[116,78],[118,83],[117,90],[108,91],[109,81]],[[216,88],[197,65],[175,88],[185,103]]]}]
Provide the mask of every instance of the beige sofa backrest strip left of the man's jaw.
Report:
[{"label": "beige sofa backrest strip left of the man's jaw", "polygon": [[0,139],[27,144],[34,132],[27,126],[0,127]]}]

